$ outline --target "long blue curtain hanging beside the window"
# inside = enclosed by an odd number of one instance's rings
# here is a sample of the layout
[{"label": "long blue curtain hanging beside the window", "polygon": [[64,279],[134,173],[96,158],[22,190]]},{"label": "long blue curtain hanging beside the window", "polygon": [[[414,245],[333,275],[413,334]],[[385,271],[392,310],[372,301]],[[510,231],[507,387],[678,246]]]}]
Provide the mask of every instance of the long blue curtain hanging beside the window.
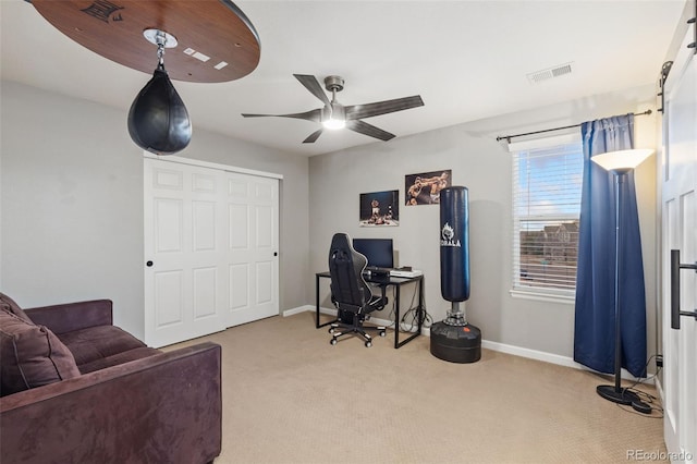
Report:
[{"label": "long blue curtain hanging beside the window", "polygon": [[[578,231],[574,361],[614,373],[615,192],[614,174],[590,158],[633,148],[634,114],[582,124],[584,175]],[[623,184],[620,262],[622,367],[646,377],[646,296],[634,172]]]}]

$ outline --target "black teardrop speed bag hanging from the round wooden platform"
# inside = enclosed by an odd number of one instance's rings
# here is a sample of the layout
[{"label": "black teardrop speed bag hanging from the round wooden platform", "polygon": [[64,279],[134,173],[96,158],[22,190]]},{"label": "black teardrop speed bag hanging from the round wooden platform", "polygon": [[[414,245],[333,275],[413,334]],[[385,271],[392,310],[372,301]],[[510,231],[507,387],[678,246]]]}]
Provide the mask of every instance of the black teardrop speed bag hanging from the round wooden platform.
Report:
[{"label": "black teardrop speed bag hanging from the round wooden platform", "polygon": [[140,148],[156,155],[172,155],[192,139],[188,111],[160,65],[133,100],[129,111],[129,133]]}]

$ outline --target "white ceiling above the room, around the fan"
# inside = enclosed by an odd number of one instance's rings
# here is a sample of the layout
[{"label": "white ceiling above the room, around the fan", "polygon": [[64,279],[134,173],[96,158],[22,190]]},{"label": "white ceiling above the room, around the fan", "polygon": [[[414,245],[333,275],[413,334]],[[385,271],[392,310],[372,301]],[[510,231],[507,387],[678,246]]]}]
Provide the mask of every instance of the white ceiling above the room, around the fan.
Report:
[{"label": "white ceiling above the room, around the fan", "polygon": [[[321,107],[294,73],[314,74],[320,82],[341,75],[345,88],[338,98],[344,105],[420,95],[424,107],[366,120],[398,137],[652,84],[685,1],[235,3],[259,34],[261,59],[239,81],[174,82],[192,118],[193,137],[205,127],[313,156],[386,142],[343,130],[302,144],[316,123],[240,114]],[[125,131],[127,109],[148,74],[72,41],[23,0],[0,0],[0,17],[3,80],[121,108]],[[154,68],[156,60],[154,50]],[[571,74],[538,84],[527,78],[570,62]]]}]

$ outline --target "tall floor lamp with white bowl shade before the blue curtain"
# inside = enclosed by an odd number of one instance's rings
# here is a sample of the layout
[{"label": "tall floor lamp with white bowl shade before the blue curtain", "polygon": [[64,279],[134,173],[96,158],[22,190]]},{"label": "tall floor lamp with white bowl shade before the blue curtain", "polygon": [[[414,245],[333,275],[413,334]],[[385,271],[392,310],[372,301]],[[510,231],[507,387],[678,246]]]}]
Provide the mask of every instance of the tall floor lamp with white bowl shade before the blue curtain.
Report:
[{"label": "tall floor lamp with white bowl shade before the blue curtain", "polygon": [[632,404],[639,402],[636,393],[620,387],[622,380],[622,331],[620,319],[622,316],[622,305],[620,301],[620,262],[622,259],[622,194],[627,174],[639,166],[646,158],[651,156],[651,149],[632,149],[609,151],[596,155],[590,158],[591,161],[599,164],[608,172],[614,174],[614,386],[598,386],[596,391],[606,400],[620,404]]}]

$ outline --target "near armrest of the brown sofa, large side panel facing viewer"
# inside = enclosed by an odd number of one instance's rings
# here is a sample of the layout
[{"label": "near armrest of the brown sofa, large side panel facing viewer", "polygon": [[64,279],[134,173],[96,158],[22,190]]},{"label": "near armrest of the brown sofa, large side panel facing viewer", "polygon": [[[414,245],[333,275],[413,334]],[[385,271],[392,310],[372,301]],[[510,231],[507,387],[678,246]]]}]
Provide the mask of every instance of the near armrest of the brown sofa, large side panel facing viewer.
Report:
[{"label": "near armrest of the brown sofa, large side panel facing viewer", "polygon": [[0,462],[211,462],[220,369],[206,342],[3,396]]}]

